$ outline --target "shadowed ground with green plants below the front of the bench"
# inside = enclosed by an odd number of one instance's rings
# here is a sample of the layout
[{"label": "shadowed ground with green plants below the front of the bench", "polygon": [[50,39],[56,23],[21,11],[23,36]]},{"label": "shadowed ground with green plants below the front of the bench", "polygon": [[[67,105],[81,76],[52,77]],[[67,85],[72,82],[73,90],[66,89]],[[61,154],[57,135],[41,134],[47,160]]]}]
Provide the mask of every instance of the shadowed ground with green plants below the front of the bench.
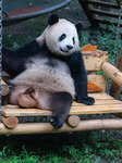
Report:
[{"label": "shadowed ground with green plants below the front of the bench", "polygon": [[[118,133],[115,133],[118,135]],[[122,159],[122,140],[101,131],[17,136],[0,146],[0,163],[99,163]]]}]

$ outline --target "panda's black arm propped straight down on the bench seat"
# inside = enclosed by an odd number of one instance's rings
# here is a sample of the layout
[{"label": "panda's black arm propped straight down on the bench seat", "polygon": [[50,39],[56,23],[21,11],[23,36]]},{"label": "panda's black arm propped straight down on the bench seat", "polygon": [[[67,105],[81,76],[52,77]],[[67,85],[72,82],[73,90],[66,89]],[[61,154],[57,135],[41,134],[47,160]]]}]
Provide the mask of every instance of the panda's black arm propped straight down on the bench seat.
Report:
[{"label": "panda's black arm propped straight down on the bench seat", "polygon": [[76,102],[94,104],[94,98],[90,98],[87,95],[87,72],[81,51],[77,51],[70,57],[69,66],[74,79]]}]

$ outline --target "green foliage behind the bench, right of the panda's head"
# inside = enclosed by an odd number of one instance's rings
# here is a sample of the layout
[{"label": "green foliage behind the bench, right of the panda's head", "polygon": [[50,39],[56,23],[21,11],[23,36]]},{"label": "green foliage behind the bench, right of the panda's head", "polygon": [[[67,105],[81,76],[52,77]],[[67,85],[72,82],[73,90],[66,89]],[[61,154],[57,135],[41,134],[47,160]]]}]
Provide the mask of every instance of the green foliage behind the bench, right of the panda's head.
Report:
[{"label": "green foliage behind the bench, right of the panda's head", "polygon": [[[109,53],[109,62],[112,61],[112,55],[114,52],[114,43],[115,43],[115,32],[117,27],[106,25],[106,29],[84,29],[81,34],[81,47],[90,43],[96,45],[99,50],[108,51]],[[122,36],[119,35],[117,42],[117,58],[120,52],[120,48],[122,47]]]}]

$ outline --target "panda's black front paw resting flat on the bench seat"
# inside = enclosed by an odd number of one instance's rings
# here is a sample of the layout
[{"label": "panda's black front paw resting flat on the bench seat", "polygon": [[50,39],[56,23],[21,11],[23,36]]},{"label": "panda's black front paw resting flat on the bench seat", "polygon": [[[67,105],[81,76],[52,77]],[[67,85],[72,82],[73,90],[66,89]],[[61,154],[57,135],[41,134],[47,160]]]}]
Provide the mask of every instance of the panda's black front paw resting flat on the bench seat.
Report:
[{"label": "panda's black front paw resting flat on the bench seat", "polygon": [[77,98],[77,99],[76,99],[76,102],[78,102],[78,103],[84,103],[84,104],[87,104],[87,105],[91,105],[91,104],[95,103],[95,99],[91,98],[91,97],[82,98],[82,99]]}]

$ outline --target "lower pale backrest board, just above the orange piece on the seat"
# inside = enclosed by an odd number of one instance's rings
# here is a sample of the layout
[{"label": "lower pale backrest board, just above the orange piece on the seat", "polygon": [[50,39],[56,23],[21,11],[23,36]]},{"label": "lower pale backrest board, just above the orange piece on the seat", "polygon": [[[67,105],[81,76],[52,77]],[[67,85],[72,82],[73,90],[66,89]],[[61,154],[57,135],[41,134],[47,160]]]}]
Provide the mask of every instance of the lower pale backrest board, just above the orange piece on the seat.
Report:
[{"label": "lower pale backrest board, just above the orange piece on the seat", "polygon": [[102,89],[102,92],[106,91],[106,76],[105,75],[88,75],[88,82],[100,87]]}]

